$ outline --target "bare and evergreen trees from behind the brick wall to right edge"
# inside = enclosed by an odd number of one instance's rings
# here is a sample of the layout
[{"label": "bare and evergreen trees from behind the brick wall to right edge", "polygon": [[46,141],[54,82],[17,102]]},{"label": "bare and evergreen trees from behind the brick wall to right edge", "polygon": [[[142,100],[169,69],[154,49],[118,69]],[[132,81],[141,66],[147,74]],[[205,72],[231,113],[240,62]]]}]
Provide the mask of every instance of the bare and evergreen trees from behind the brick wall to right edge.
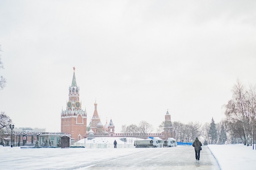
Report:
[{"label": "bare and evergreen trees from behind the brick wall to right edge", "polygon": [[[232,93],[231,99],[225,105],[225,117],[219,123],[215,123],[213,118],[203,125],[197,121],[187,124],[173,121],[171,126],[174,138],[177,141],[192,142],[195,137],[201,137],[204,144],[243,143],[247,146],[254,146],[256,144],[255,86],[250,85],[249,88],[246,88],[238,80]],[[146,121],[141,121],[138,126],[134,124],[122,126],[124,133],[151,133],[152,131],[153,126]],[[164,121],[157,129],[157,132],[163,131]]]}]

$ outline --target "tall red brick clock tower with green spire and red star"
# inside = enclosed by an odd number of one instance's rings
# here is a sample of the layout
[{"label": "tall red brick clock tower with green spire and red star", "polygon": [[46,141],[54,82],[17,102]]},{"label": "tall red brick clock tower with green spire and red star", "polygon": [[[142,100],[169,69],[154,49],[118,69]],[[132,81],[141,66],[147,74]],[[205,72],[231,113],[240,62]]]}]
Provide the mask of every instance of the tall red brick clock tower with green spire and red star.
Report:
[{"label": "tall red brick clock tower with green spire and red star", "polygon": [[68,133],[75,141],[86,135],[87,113],[82,110],[79,100],[79,87],[76,86],[75,67],[66,110],[61,111],[61,132]]}]

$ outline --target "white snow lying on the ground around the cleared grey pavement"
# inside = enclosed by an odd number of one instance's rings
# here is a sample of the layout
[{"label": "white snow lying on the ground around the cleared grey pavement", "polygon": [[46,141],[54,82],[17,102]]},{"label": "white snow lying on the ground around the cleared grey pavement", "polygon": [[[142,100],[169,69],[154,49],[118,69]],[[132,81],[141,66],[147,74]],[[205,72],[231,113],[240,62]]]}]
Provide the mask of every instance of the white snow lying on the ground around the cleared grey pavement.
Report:
[{"label": "white snow lying on the ground around the cleared grey pavement", "polygon": [[[114,140],[118,144],[124,144],[119,138],[111,137],[95,138],[86,140],[90,143],[113,144]],[[135,139],[127,139],[126,143],[132,143]],[[84,139],[79,141],[84,143]],[[177,146],[182,147],[182,146]],[[188,146],[192,147],[192,146]],[[244,145],[209,145],[208,146],[216,157],[221,170],[255,170],[256,168],[256,150],[252,146]],[[145,148],[146,149],[146,148]],[[160,148],[161,149],[161,148]],[[162,148],[168,149],[168,148]],[[171,149],[171,148],[170,148]],[[193,147],[191,148],[193,149]],[[101,154],[94,154],[100,152]],[[110,154],[111,152],[111,154]],[[137,154],[138,148],[36,148],[22,149],[20,147],[3,147],[0,146],[0,169],[34,169],[34,170],[54,170],[61,166],[65,169],[79,169],[79,167],[90,166],[91,161],[112,159],[114,157],[125,157],[129,154]],[[172,150],[175,154],[175,149]],[[90,157],[85,156],[90,154]],[[193,156],[191,156],[193,157]],[[203,161],[204,155],[201,155]],[[65,161],[66,160],[66,161]],[[72,164],[73,166],[70,166]],[[74,167],[76,165],[76,167]],[[129,168],[129,167],[128,167]],[[132,169],[132,168],[131,168]]]}]

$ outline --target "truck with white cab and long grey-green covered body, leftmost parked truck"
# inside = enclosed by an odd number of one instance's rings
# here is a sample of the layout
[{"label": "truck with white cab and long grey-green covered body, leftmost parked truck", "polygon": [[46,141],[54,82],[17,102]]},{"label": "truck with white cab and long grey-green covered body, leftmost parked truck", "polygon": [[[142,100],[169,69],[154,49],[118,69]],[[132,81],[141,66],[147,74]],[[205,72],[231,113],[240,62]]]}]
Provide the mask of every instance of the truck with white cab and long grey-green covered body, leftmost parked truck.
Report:
[{"label": "truck with white cab and long grey-green covered body, leftmost parked truck", "polygon": [[162,148],[163,140],[159,137],[149,137],[145,140],[134,141],[134,146],[136,148]]}]

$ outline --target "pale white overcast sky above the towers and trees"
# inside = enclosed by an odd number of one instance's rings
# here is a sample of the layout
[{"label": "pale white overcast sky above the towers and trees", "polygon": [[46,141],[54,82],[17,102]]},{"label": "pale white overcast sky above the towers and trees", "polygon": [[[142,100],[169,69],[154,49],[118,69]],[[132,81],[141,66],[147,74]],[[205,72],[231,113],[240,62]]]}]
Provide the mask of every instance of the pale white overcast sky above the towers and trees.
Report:
[{"label": "pale white overcast sky above the towers and trees", "polygon": [[239,79],[256,84],[256,1],[1,0],[7,79],[0,111],[15,127],[60,132],[76,68],[88,121],[219,122]]}]

